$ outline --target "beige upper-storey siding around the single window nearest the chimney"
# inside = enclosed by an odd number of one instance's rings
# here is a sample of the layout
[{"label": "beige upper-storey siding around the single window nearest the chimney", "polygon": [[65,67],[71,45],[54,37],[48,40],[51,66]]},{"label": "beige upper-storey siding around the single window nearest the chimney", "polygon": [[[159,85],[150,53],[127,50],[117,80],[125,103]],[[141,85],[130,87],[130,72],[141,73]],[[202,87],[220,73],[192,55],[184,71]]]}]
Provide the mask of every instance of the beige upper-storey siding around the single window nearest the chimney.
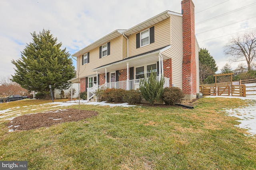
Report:
[{"label": "beige upper-storey siding around the single window nearest the chimney", "polygon": [[[148,27],[149,28],[149,27]],[[170,45],[170,20],[166,19],[154,25],[155,42],[136,49],[136,34],[128,37],[129,39],[129,57],[145,53],[166,45]]]}]

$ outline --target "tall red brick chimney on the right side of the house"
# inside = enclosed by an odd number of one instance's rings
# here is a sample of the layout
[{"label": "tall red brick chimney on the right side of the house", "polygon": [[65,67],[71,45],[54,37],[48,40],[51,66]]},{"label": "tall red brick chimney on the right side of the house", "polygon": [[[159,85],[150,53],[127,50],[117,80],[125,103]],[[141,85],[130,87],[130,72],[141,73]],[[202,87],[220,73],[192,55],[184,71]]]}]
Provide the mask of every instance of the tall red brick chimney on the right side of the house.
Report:
[{"label": "tall red brick chimney on the right side of the house", "polygon": [[183,63],[182,91],[186,100],[196,98],[196,39],[194,3],[182,0]]}]

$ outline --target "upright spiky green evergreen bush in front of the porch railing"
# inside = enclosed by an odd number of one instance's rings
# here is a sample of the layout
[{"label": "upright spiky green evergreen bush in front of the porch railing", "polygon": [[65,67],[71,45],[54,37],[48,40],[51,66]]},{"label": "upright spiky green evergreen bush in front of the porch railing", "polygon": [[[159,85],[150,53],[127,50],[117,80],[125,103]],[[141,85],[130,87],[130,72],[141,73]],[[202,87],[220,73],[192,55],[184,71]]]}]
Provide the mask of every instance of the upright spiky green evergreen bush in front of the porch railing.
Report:
[{"label": "upright spiky green evergreen bush in front of the porch railing", "polygon": [[143,98],[148,101],[151,105],[154,105],[164,92],[164,78],[160,80],[156,78],[156,72],[150,73],[150,77],[146,77],[140,81],[140,91]]}]

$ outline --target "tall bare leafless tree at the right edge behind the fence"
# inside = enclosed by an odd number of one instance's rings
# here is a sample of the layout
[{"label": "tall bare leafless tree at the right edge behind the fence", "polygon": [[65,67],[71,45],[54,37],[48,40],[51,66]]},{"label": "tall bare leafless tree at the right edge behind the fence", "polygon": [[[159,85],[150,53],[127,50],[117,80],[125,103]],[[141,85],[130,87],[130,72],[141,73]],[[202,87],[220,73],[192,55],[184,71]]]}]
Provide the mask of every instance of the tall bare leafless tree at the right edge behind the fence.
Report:
[{"label": "tall bare leafless tree at the right edge behind the fence", "polygon": [[251,63],[256,58],[256,30],[232,37],[224,46],[224,53],[226,56],[232,57],[230,61],[246,61],[248,71],[250,71]]}]

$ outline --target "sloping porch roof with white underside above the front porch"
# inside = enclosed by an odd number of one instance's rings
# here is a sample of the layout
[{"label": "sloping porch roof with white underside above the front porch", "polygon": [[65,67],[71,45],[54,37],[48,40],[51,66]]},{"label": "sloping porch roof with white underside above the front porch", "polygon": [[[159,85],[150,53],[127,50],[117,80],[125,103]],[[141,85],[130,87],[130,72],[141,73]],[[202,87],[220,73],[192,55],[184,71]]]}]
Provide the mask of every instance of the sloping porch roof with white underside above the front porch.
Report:
[{"label": "sloping porch roof with white underside above the front porch", "polygon": [[[158,61],[159,53],[162,53],[163,51],[166,51],[169,48],[171,48],[171,45],[167,45],[159,49],[154,49],[152,51],[148,51],[146,53],[142,53],[139,55],[134,55],[132,57],[127,57],[125,59],[115,61],[109,64],[104,64],[102,66],[92,69],[92,71],[98,71],[98,73],[105,72],[105,68],[107,68],[108,72],[122,70],[127,68],[127,63],[129,63],[129,67],[140,66],[142,64],[143,65],[151,64]],[[162,55],[162,56],[163,56],[163,60],[170,59],[170,57],[166,55]]]}]

